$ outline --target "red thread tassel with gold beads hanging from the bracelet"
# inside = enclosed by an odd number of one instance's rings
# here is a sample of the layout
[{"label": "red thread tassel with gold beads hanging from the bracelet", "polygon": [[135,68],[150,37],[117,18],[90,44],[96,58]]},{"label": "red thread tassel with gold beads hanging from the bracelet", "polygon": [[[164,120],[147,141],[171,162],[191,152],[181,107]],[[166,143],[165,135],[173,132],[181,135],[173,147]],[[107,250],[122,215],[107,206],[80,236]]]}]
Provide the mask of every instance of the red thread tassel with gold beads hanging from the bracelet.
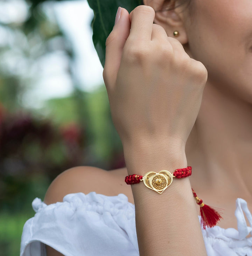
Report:
[{"label": "red thread tassel with gold beads hanging from the bracelet", "polygon": [[198,198],[193,188],[192,191],[197,204],[200,206],[201,226],[203,229],[206,227],[214,227],[220,219],[223,219],[222,216],[215,210],[217,208],[214,209],[213,207],[205,205],[203,201]]}]

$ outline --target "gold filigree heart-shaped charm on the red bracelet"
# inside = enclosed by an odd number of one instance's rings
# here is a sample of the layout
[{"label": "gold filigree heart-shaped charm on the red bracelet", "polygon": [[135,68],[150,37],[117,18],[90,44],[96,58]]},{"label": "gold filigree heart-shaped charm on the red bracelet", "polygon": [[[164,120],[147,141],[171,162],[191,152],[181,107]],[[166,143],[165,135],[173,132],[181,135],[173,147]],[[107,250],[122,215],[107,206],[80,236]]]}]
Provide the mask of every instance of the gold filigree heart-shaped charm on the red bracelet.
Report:
[{"label": "gold filigree heart-shaped charm on the red bracelet", "polygon": [[165,189],[171,185],[173,175],[166,170],[162,170],[159,173],[147,172],[143,177],[143,181],[146,187],[162,194]]}]

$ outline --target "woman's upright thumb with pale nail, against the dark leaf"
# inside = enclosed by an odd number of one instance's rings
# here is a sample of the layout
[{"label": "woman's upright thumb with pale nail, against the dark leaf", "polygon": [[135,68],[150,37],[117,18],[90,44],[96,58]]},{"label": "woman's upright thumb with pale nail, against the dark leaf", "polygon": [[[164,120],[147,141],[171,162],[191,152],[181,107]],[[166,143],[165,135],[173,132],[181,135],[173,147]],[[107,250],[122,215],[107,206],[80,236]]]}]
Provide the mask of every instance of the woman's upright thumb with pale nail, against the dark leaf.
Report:
[{"label": "woman's upright thumb with pale nail, against the dark leaf", "polygon": [[105,64],[103,79],[106,87],[116,82],[117,72],[121,63],[124,44],[130,34],[131,22],[128,11],[119,7],[115,20],[116,24],[106,40]]}]

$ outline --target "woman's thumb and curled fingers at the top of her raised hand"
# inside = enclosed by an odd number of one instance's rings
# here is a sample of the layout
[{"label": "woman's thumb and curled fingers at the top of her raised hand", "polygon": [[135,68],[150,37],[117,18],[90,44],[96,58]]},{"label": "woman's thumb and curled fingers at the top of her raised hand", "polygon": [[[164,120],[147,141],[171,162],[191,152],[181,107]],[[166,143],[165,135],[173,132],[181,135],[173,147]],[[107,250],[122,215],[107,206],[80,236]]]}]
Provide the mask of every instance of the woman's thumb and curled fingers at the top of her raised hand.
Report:
[{"label": "woman's thumb and curled fingers at the top of her raised hand", "polygon": [[[180,57],[181,54],[187,55],[178,40],[168,37],[161,26],[153,24],[154,17],[155,11],[150,6],[138,6],[130,15],[126,9],[121,8],[120,19],[117,19],[117,24],[106,40],[103,71],[106,88],[113,88],[116,84],[123,49],[126,47],[126,44],[127,49],[144,52],[144,50],[151,51],[151,48],[148,46],[150,46],[151,41],[156,41],[156,43],[162,46],[160,47],[160,53],[163,53],[165,50],[168,56],[169,53],[173,53],[176,57]],[[128,52],[126,50],[126,55],[130,55],[132,51]]]}]

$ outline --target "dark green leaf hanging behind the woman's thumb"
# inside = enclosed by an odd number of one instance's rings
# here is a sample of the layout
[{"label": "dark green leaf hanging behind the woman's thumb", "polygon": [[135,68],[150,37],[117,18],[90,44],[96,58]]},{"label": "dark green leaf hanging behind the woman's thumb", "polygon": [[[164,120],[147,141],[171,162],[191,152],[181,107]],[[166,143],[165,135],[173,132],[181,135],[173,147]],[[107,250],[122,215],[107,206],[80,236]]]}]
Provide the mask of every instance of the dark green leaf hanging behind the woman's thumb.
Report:
[{"label": "dark green leaf hanging behind the woman's thumb", "polygon": [[141,0],[87,0],[87,2],[94,12],[91,23],[94,48],[104,67],[105,42],[113,29],[118,7],[121,6],[130,13],[135,7],[141,5]]}]

